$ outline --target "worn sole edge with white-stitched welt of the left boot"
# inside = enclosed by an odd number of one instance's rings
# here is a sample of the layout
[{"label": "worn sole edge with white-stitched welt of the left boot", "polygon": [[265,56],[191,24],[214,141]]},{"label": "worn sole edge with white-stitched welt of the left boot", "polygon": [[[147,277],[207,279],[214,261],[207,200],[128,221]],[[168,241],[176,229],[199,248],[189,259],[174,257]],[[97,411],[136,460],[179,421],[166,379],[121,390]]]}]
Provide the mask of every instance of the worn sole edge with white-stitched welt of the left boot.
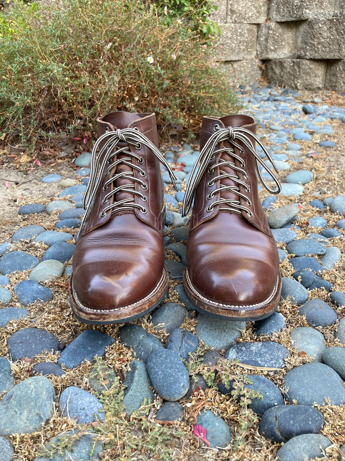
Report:
[{"label": "worn sole edge with white-stitched welt of the left boot", "polygon": [[76,296],[73,286],[73,273],[69,279],[69,299],[75,317],[88,325],[109,325],[140,319],[150,313],[166,297],[169,288],[167,269],[164,267],[162,277],[150,295],[130,306],[109,309],[95,309],[84,306]]}]

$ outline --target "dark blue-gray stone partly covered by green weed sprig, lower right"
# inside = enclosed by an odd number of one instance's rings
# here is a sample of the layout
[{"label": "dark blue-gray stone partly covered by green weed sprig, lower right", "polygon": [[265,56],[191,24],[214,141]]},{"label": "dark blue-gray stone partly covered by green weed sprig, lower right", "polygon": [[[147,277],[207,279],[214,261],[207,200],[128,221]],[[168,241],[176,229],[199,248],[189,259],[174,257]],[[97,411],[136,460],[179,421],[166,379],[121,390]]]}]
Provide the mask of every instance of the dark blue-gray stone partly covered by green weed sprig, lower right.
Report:
[{"label": "dark blue-gray stone partly covered by green weed sprig, lower right", "polygon": [[[243,379],[239,376],[238,382],[242,385]],[[251,381],[249,383],[248,381]],[[227,385],[223,384],[221,381],[219,383],[219,391],[224,394],[231,394],[233,389],[236,389],[237,383],[235,379],[227,382]],[[280,390],[277,388],[276,384],[272,383],[267,378],[259,375],[250,375],[246,376],[246,380],[243,382],[243,387],[260,392],[262,398],[251,398],[251,403],[249,403],[248,407],[253,410],[254,413],[263,415],[265,412],[271,408],[275,407],[276,405],[283,405],[284,400]],[[238,400],[240,400],[241,396],[238,396]]]}]

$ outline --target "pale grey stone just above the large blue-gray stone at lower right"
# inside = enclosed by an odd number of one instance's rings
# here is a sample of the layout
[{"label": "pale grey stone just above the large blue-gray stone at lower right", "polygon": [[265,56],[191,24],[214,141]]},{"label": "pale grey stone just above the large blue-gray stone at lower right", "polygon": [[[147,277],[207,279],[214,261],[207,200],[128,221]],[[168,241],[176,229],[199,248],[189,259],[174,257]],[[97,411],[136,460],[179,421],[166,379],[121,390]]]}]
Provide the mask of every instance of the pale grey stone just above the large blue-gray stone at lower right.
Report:
[{"label": "pale grey stone just above the large blue-gray stone at lower right", "polygon": [[322,352],[326,349],[323,334],[310,326],[298,326],[291,331],[293,347],[313,357],[313,362],[322,362]]}]

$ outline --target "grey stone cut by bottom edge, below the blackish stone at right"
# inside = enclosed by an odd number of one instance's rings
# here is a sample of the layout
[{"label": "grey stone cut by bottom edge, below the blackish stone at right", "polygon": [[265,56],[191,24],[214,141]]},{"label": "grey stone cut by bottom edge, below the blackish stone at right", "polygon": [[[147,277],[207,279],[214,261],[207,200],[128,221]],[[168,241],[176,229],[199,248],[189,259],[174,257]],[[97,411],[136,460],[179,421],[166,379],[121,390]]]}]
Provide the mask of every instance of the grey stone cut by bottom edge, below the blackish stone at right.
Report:
[{"label": "grey stone cut by bottom edge, below the blackish stone at right", "polygon": [[332,442],[320,434],[303,434],[290,438],[277,452],[277,461],[305,461],[321,458]]}]

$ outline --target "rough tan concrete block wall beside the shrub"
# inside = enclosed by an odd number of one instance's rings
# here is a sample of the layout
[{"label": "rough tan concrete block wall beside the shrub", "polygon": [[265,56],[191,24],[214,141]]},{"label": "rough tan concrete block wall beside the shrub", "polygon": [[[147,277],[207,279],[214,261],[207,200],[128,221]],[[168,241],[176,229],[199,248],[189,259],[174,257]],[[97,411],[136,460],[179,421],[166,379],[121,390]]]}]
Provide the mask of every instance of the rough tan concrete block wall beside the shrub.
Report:
[{"label": "rough tan concrete block wall beside the shrub", "polygon": [[345,91],[345,0],[215,0],[232,79]]}]

